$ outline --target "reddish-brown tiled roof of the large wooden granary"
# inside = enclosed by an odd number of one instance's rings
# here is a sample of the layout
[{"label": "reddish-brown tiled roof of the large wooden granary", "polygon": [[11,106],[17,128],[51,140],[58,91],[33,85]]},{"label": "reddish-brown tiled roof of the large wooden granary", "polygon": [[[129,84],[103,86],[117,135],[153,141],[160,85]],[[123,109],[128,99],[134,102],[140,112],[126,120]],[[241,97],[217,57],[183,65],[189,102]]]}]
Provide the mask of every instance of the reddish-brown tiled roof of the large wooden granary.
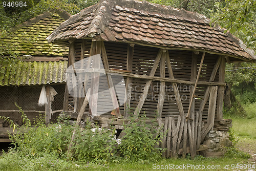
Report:
[{"label": "reddish-brown tiled roof of the large wooden granary", "polygon": [[61,24],[47,37],[66,44],[69,39],[103,39],[134,42],[167,49],[198,50],[223,54],[245,61],[255,60],[254,51],[243,42],[209,26],[210,20],[185,11],[137,0],[101,0]]}]

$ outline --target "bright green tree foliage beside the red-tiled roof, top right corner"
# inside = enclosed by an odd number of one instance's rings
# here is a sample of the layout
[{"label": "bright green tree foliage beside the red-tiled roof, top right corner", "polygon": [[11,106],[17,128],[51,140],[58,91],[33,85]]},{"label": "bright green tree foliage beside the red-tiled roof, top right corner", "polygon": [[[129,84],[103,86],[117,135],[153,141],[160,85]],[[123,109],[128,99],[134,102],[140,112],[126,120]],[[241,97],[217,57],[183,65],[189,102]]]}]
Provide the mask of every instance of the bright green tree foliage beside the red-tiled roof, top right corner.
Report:
[{"label": "bright green tree foliage beside the red-tiled roof, top right corner", "polygon": [[256,49],[256,1],[226,0],[226,4],[221,12],[213,16],[213,22],[239,36],[252,49]]}]

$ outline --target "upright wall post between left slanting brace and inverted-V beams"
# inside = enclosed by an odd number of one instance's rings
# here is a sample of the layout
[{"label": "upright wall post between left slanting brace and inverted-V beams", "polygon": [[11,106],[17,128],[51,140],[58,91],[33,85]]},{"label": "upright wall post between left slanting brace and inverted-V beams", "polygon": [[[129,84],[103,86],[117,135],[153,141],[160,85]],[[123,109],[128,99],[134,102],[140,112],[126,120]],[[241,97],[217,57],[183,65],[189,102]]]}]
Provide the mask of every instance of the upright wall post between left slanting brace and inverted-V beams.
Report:
[{"label": "upright wall post between left slanting brace and inverted-V beams", "polygon": [[[126,70],[133,73],[133,54],[134,44],[127,45],[127,59],[126,59]],[[125,103],[124,103],[124,118],[128,118],[131,113],[131,96],[132,96],[133,78],[126,78],[126,91],[125,91]]]}]

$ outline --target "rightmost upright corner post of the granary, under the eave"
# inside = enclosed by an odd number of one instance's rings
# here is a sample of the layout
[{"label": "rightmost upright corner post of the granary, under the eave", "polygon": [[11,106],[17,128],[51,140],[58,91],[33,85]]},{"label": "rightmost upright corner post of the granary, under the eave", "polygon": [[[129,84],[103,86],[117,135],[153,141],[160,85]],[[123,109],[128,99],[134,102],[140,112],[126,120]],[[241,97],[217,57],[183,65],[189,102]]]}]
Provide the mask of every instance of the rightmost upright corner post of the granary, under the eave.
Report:
[{"label": "rightmost upright corner post of the granary, under the eave", "polygon": [[[219,69],[219,82],[225,82],[225,69],[226,60],[222,56],[220,69]],[[224,86],[219,86],[218,101],[217,101],[217,119],[223,119],[223,98],[224,98]]]}]

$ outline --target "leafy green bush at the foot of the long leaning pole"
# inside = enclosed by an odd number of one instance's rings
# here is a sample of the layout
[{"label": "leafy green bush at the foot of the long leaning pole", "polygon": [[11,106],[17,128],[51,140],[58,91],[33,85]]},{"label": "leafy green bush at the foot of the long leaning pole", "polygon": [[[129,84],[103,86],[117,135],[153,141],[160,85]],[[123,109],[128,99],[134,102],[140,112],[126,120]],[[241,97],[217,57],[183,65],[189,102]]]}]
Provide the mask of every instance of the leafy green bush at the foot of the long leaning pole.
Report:
[{"label": "leafy green bush at the foot of the long leaning pole", "polygon": [[[82,130],[82,131],[81,131]],[[84,129],[78,129],[72,150],[79,161],[107,161],[115,154],[115,129],[92,127],[89,123]]]}]

